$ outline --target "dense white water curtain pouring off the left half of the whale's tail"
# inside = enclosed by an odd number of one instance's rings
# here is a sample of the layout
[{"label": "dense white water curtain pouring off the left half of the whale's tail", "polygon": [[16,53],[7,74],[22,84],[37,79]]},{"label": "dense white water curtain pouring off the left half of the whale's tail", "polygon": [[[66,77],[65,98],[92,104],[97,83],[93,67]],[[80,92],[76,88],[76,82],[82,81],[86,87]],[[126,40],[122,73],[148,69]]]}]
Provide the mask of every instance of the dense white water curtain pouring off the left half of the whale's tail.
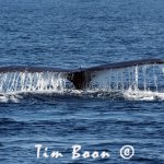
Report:
[{"label": "dense white water curtain pouring off the left half of the whale's tail", "polygon": [[63,92],[66,81],[56,72],[7,72],[0,75],[0,93]]}]

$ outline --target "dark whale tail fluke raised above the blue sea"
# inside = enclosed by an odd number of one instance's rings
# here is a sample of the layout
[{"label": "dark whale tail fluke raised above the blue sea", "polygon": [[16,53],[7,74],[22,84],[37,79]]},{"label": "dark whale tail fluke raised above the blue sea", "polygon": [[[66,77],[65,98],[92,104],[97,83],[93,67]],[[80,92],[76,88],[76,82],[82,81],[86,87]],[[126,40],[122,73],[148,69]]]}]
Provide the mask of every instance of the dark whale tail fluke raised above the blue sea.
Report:
[{"label": "dark whale tail fluke raised above the blue sea", "polygon": [[163,59],[139,59],[130,61],[120,61],[120,62],[109,62],[105,65],[99,65],[89,68],[79,68],[79,69],[60,69],[54,67],[37,67],[37,66],[2,66],[0,67],[0,73],[8,72],[58,72],[61,73],[68,81],[70,81],[75,90],[86,89],[92,79],[96,77],[97,73],[101,73],[105,70],[115,70],[124,69],[128,67],[143,66],[143,65],[162,65],[164,63]]}]

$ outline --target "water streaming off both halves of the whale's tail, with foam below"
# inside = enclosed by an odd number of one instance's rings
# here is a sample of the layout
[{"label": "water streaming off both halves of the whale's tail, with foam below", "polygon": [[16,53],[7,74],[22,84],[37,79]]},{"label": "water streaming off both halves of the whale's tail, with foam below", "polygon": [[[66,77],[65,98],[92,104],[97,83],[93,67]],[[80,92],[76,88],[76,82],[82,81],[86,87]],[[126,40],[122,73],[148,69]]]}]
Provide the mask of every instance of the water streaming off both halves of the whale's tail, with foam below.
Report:
[{"label": "water streaming off both halves of the whale's tail, with foam below", "polygon": [[164,65],[143,65],[96,71],[89,87],[75,90],[63,72],[1,72],[0,102],[19,103],[22,93],[164,99]]}]

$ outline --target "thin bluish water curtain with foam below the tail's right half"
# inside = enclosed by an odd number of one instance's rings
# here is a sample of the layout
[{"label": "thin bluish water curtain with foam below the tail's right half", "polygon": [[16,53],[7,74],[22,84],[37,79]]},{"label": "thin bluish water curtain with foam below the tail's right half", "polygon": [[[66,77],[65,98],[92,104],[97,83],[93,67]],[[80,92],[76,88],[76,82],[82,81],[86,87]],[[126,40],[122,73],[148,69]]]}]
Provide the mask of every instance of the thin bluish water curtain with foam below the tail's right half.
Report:
[{"label": "thin bluish water curtain with foam below the tail's right half", "polygon": [[164,66],[144,65],[106,70],[93,78],[90,89],[119,93],[126,99],[164,99]]}]

